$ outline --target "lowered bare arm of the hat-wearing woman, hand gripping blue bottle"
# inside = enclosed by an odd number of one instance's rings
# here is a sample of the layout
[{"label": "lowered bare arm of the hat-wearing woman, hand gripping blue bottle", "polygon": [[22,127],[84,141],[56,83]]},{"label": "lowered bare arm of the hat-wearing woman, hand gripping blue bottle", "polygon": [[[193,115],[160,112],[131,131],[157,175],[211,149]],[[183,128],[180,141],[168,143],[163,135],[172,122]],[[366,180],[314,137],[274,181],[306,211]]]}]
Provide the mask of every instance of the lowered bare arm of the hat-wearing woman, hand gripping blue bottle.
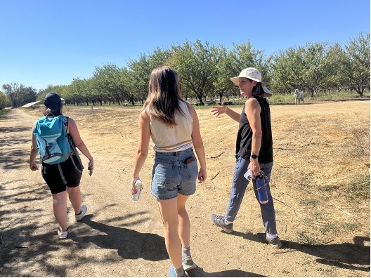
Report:
[{"label": "lowered bare arm of the hat-wearing woman, hand gripping blue bottle", "polygon": [[[245,112],[252,128],[252,154],[259,155],[262,134],[260,121],[261,107],[259,102],[255,98],[249,98],[245,103]],[[259,175],[259,158],[250,159],[248,168],[252,171],[253,176]]]}]

